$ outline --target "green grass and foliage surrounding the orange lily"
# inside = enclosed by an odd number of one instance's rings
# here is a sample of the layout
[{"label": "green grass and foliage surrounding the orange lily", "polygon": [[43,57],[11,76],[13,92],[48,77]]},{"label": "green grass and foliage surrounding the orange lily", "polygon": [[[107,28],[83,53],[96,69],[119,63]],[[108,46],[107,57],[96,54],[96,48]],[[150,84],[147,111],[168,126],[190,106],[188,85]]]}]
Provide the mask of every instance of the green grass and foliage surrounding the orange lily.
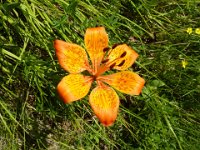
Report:
[{"label": "green grass and foliage surrounding the orange lily", "polygon": [[[0,149],[200,149],[200,27],[197,0],[0,0]],[[84,46],[104,26],[109,45],[127,43],[146,80],[120,94],[118,118],[103,127],[88,97],[63,104],[66,72],[53,40]],[[181,62],[188,65],[183,68]]]}]

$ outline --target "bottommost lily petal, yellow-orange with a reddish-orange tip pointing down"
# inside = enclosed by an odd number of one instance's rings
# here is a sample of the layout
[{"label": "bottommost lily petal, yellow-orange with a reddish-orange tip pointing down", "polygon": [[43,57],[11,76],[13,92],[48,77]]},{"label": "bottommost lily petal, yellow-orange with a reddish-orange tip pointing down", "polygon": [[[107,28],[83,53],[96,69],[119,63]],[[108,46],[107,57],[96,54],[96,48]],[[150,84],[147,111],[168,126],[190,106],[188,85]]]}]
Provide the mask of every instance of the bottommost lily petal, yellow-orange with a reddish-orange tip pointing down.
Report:
[{"label": "bottommost lily petal, yellow-orange with a reddish-orange tip pointing down", "polygon": [[117,118],[119,109],[119,97],[111,88],[102,83],[92,90],[89,102],[100,122],[110,126]]}]

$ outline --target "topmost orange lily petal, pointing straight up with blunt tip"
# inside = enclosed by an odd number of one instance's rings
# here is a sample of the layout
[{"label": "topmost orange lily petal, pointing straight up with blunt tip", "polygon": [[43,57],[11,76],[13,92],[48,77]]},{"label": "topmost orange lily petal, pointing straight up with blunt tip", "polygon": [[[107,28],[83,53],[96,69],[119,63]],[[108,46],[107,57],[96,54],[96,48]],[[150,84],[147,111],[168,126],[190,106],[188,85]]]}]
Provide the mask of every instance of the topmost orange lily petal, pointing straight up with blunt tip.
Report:
[{"label": "topmost orange lily petal, pointing straight up with blunt tip", "polygon": [[93,64],[94,72],[104,56],[104,48],[108,47],[108,35],[104,27],[88,28],[85,33],[85,46]]}]

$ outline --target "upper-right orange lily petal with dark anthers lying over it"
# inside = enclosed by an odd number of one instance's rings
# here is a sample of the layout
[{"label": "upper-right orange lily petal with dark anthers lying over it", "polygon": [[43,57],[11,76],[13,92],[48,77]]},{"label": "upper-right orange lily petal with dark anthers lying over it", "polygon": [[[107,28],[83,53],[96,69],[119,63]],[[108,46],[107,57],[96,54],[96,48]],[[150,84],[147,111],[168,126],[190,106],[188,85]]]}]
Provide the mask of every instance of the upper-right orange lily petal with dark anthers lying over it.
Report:
[{"label": "upper-right orange lily petal with dark anthers lying over it", "polygon": [[129,68],[137,59],[139,55],[126,44],[118,45],[112,49],[107,57],[109,62],[114,60],[115,66],[114,69],[125,70]]}]

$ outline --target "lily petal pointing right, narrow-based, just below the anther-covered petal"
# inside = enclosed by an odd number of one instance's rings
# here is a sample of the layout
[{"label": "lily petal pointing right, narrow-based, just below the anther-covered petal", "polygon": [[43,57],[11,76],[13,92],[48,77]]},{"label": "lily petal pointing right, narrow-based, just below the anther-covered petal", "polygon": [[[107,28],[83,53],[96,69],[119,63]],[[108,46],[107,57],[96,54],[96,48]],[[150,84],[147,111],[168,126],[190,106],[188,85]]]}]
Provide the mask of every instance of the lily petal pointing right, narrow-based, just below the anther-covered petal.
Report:
[{"label": "lily petal pointing right, narrow-based, just below the anther-covered petal", "polygon": [[100,76],[97,79],[106,82],[120,92],[130,95],[139,95],[145,84],[143,78],[131,71],[122,71],[111,75]]}]

